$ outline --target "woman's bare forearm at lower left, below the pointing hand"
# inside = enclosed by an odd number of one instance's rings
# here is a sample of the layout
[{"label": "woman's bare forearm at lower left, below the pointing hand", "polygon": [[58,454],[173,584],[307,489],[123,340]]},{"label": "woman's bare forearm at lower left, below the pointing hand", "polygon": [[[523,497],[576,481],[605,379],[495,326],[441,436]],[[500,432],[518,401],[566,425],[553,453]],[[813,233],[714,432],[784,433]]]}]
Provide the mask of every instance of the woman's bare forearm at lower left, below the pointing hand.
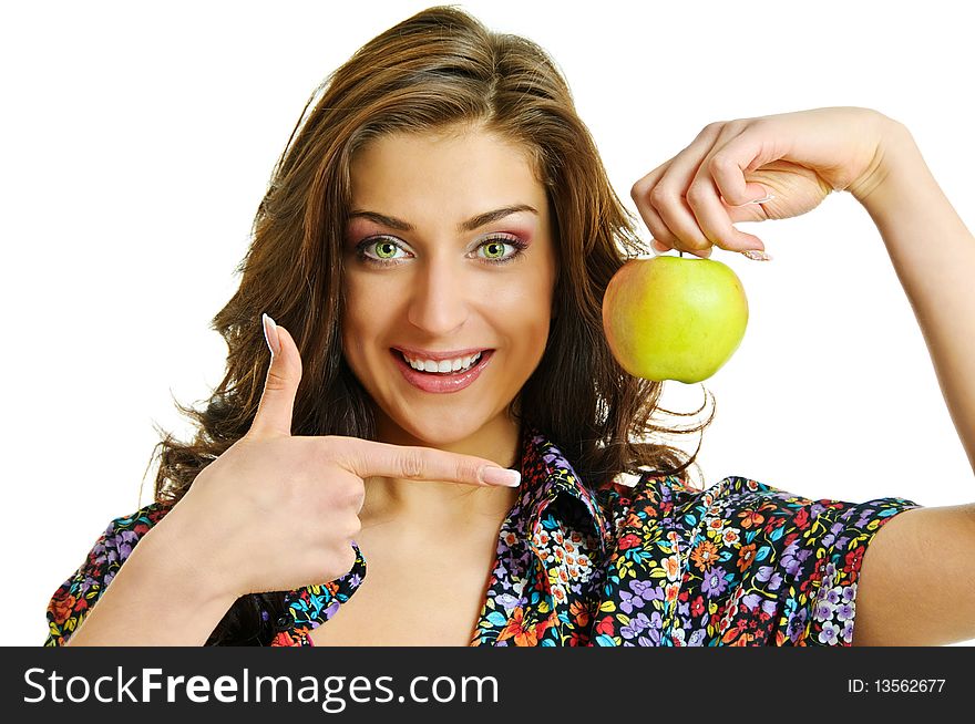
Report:
[{"label": "woman's bare forearm at lower left, below the pointing hand", "polygon": [[203,645],[233,600],[211,592],[167,538],[150,530],[66,645]]}]

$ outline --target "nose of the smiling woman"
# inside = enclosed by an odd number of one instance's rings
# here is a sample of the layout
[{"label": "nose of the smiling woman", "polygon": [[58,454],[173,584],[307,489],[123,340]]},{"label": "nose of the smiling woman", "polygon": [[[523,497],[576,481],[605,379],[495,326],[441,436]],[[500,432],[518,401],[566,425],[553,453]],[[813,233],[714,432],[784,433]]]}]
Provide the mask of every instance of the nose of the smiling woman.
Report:
[{"label": "nose of the smiling woman", "polygon": [[409,320],[430,337],[450,337],[468,319],[473,285],[461,269],[464,261],[434,254],[417,265]]}]

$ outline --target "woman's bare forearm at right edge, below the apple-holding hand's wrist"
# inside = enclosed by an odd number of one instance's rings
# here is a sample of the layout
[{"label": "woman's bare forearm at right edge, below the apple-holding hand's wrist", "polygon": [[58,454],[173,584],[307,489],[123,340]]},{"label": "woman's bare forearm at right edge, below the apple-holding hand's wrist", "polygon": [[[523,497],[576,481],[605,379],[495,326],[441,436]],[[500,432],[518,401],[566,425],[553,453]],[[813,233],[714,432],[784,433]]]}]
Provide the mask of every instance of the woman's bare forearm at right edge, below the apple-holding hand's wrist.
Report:
[{"label": "woman's bare forearm at right edge, below the apple-holding hand's wrist", "polygon": [[975,470],[975,238],[911,134],[892,124],[868,183],[851,188],[876,224]]}]

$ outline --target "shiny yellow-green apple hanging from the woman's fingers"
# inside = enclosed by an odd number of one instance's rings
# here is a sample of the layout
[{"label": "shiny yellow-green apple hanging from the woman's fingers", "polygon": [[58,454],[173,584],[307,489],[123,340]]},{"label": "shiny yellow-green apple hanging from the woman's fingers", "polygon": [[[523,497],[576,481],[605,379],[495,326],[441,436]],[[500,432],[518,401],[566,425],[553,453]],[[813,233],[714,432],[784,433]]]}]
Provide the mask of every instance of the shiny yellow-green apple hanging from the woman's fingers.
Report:
[{"label": "shiny yellow-green apple hanging from the woman's fingers", "polygon": [[609,280],[603,329],[624,370],[647,380],[707,380],[741,344],[745,288],[714,259],[630,259]]}]

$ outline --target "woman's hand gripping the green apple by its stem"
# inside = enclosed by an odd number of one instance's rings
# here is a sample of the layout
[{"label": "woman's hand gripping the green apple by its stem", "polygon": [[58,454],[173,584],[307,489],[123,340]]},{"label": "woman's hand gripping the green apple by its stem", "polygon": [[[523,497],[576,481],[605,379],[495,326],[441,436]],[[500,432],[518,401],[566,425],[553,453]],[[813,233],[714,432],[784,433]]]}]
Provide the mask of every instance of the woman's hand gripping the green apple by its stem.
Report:
[{"label": "woman's hand gripping the green apple by its stem", "polygon": [[657,251],[763,251],[761,239],[732,224],[799,216],[833,190],[860,197],[895,123],[859,107],[711,123],[630,195]]}]

